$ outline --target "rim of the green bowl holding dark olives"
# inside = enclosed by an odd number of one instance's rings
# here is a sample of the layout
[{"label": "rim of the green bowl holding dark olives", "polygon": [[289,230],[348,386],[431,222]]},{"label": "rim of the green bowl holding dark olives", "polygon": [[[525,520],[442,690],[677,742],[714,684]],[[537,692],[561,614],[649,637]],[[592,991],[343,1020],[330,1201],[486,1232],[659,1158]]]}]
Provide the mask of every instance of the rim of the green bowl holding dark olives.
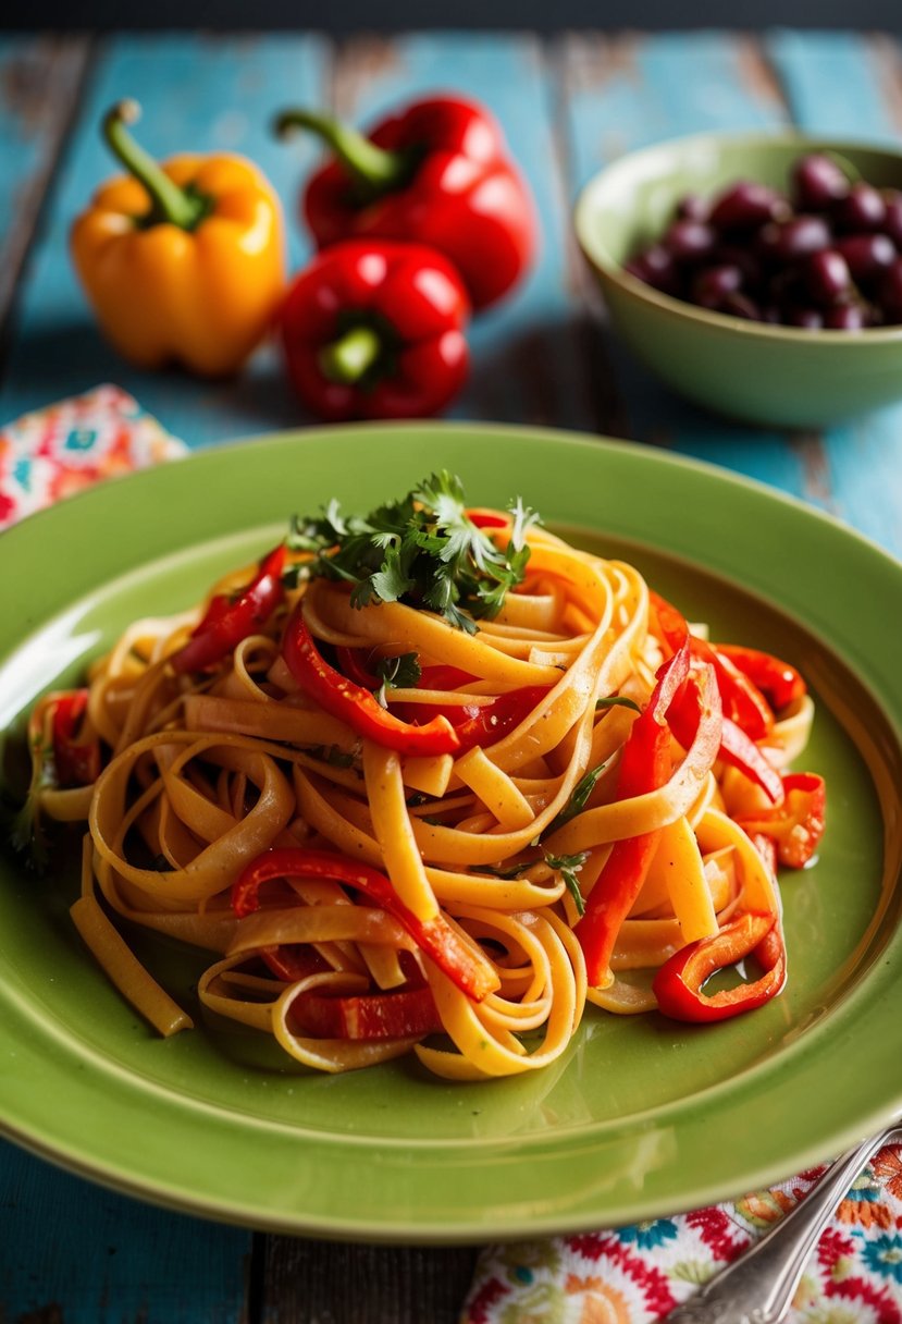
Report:
[{"label": "rim of the green bowl holding dark olives", "polygon": [[[631,275],[620,262],[616,262],[608,254],[603,242],[598,244],[598,237],[591,232],[589,217],[591,216],[595,193],[603,184],[610,181],[611,175],[615,175],[618,169],[624,168],[627,164],[634,164],[643,156],[653,156],[659,152],[664,154],[673,148],[690,150],[694,144],[705,142],[737,147],[784,146],[795,147],[799,151],[833,151],[837,155],[866,151],[898,162],[899,175],[902,176],[902,151],[887,143],[865,138],[829,138],[824,134],[807,134],[792,127],[775,128],[772,131],[702,130],[676,138],[661,138],[653,143],[647,143],[644,147],[636,147],[616,156],[596,171],[579,189],[573,207],[573,226],[579,249],[589,265],[598,270],[603,278],[619,286],[626,294],[652,307],[657,307],[671,316],[681,316],[692,322],[698,322],[713,331],[725,331],[738,336],[747,336],[753,340],[804,344],[808,348],[813,348],[817,344],[831,347],[837,344],[894,344],[902,342],[902,323],[890,327],[864,327],[860,331],[819,327],[817,331],[812,332],[804,327],[787,327],[771,322],[751,322],[745,318],[731,316],[727,312],[714,312],[710,308],[689,303],[686,299],[677,299],[672,294],[664,294],[661,290],[656,290],[653,286],[640,281],[639,277]],[[902,188],[902,183],[899,187]],[[902,252],[899,256],[902,256]]]}]

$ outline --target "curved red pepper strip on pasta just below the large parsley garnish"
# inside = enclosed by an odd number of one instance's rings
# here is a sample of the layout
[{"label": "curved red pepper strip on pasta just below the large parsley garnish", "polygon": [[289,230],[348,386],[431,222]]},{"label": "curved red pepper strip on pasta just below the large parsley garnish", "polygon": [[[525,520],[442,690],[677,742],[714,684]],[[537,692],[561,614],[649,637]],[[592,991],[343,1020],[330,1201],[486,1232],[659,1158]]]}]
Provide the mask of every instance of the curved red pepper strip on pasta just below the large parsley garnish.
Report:
[{"label": "curved red pepper strip on pasta just below the large parsley garnish", "polygon": [[298,604],[282,641],[282,655],[298,685],[333,718],[357,735],[398,753],[458,753],[460,741],[447,718],[436,716],[423,727],[402,722],[325,661],[313,642]]}]

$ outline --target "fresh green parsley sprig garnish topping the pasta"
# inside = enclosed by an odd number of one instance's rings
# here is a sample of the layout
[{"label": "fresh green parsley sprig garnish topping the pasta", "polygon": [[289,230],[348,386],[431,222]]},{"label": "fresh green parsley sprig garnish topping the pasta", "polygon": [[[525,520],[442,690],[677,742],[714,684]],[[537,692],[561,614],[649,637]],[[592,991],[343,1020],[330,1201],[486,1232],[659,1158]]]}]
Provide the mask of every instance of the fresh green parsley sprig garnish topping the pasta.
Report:
[{"label": "fresh green parsley sprig garnish topping the pasta", "polygon": [[317,518],[295,516],[288,547],[311,555],[299,573],[350,584],[354,606],[422,606],[473,634],[526,573],[526,534],[538,515],[520,499],[509,514],[507,547],[496,547],[468,518],[460,479],[442,470],[365,516],[345,516],[336,500]]}]

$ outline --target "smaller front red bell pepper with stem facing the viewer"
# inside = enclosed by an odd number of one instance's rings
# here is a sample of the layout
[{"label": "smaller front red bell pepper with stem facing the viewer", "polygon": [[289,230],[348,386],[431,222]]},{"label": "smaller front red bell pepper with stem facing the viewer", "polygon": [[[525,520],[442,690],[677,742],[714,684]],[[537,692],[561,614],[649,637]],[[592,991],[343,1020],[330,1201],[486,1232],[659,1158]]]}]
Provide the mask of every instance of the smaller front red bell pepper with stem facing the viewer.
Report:
[{"label": "smaller front red bell pepper with stem facing the viewer", "polygon": [[470,371],[467,291],[421,244],[347,240],[295,277],[280,311],[291,383],[331,422],[438,413]]}]

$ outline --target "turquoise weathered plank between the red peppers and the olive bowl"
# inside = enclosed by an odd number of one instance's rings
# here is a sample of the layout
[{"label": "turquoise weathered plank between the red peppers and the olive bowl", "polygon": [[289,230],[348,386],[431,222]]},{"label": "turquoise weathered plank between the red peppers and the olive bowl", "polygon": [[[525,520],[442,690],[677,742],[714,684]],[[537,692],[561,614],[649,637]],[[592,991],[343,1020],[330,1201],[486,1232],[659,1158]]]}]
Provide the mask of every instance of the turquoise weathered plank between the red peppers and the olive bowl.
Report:
[{"label": "turquoise weathered plank between the red peppers and the olive bowl", "polygon": [[591,428],[574,339],[582,315],[567,271],[569,199],[555,148],[553,85],[530,36],[448,32],[357,38],[337,66],[336,107],[366,127],[425,93],[454,87],[488,105],[536,199],[540,260],[528,281],[471,327],[472,376],[451,417]]}]

